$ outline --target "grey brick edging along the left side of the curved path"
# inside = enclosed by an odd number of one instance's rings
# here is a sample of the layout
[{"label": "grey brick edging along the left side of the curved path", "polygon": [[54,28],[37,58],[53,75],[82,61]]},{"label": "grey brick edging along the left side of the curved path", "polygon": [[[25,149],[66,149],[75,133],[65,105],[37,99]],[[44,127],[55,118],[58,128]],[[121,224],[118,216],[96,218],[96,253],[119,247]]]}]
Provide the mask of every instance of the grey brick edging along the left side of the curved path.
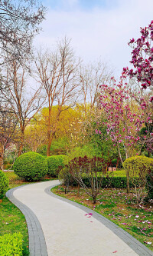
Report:
[{"label": "grey brick edging along the left side of the curved path", "polygon": [[17,206],[20,211],[24,214],[24,217],[28,226],[28,237],[29,237],[29,251],[30,256],[48,256],[47,246],[44,238],[44,233],[41,228],[41,224],[38,221],[36,215],[30,208],[25,204],[22,204],[21,201],[18,201],[13,195],[13,192],[21,187],[12,188],[6,192],[6,196],[15,206]]}]

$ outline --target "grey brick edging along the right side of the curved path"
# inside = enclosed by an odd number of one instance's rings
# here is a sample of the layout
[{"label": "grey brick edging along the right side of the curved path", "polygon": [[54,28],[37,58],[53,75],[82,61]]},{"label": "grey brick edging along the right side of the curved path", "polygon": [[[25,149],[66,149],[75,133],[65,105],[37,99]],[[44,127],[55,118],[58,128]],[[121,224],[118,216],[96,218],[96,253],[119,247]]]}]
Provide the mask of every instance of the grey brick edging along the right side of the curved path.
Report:
[{"label": "grey brick edging along the right side of the curved path", "polygon": [[73,206],[76,206],[77,208],[80,208],[81,210],[85,212],[91,212],[93,214],[93,218],[96,218],[97,221],[100,221],[102,224],[104,224],[107,228],[109,228],[113,233],[115,233],[122,241],[125,242],[125,244],[128,244],[130,248],[132,248],[133,251],[135,251],[139,256],[153,256],[153,252],[149,250],[144,244],[139,242],[137,239],[133,238],[131,234],[124,231],[122,228],[119,228],[118,225],[113,223],[112,221],[109,221],[109,219],[103,217],[103,215],[98,214],[96,211],[91,210],[90,208],[87,208],[86,206],[83,206],[81,204],[77,204],[74,201],[70,201],[66,198],[62,198],[58,196],[57,194],[54,194],[50,191],[51,188],[56,187],[57,185],[50,186],[46,188],[44,191],[47,194],[50,194],[54,198],[58,198],[62,201],[66,201],[69,204],[73,204]]}]

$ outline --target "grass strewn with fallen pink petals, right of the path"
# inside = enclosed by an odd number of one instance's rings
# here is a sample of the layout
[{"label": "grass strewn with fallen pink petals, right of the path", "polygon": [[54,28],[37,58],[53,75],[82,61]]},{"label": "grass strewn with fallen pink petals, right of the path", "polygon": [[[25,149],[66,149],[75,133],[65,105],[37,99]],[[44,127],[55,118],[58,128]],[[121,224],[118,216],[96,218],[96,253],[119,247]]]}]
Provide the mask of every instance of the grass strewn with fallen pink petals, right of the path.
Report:
[{"label": "grass strewn with fallen pink petals, right of the path", "polygon": [[125,189],[102,189],[96,204],[93,204],[92,198],[82,188],[79,196],[76,187],[70,188],[67,194],[64,194],[62,185],[51,191],[102,214],[153,251],[153,204],[137,207],[135,195],[126,194]]}]

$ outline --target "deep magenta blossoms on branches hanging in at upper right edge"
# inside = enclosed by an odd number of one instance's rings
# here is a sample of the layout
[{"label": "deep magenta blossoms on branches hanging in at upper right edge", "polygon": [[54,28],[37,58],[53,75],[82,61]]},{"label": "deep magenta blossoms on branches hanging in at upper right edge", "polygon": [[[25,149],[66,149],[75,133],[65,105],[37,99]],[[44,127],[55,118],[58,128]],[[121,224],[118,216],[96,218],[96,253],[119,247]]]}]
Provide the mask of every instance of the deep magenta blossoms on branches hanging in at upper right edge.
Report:
[{"label": "deep magenta blossoms on branches hanging in at upper right edge", "polygon": [[[153,21],[148,27],[141,28],[141,37],[135,40],[132,38],[129,45],[132,50],[133,69],[123,68],[122,75],[129,75],[130,78],[136,77],[141,82],[142,89],[150,88],[153,85]],[[150,98],[153,102],[153,97]]]}]

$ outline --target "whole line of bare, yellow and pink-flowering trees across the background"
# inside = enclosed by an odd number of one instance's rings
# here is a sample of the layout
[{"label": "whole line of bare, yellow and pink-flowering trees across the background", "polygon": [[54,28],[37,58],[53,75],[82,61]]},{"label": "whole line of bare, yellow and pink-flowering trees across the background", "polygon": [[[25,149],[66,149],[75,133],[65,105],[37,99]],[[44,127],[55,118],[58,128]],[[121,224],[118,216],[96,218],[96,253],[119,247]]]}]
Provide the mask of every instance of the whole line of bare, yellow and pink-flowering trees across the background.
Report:
[{"label": "whole line of bare, yellow and pink-flowering trees across the background", "polygon": [[83,65],[69,38],[54,48],[32,48],[46,12],[41,3],[2,1],[1,8],[1,168],[11,145],[18,156],[25,145],[32,151],[47,145],[49,156],[53,142],[63,137],[69,149],[93,145],[108,165],[111,154],[118,162],[143,151],[152,155],[152,23],[141,30],[141,40],[130,41],[136,44],[135,70],[123,68],[116,81],[102,61]]}]

